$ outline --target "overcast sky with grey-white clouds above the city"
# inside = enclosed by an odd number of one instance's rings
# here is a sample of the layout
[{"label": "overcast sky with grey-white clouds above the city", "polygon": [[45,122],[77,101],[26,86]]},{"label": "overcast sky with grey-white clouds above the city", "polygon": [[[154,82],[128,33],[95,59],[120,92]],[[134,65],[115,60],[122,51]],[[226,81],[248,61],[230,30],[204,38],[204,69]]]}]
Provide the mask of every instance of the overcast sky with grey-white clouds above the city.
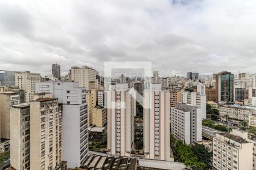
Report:
[{"label": "overcast sky with grey-white clouds above the city", "polygon": [[152,61],[162,76],[256,73],[256,1],[1,1],[0,70]]}]

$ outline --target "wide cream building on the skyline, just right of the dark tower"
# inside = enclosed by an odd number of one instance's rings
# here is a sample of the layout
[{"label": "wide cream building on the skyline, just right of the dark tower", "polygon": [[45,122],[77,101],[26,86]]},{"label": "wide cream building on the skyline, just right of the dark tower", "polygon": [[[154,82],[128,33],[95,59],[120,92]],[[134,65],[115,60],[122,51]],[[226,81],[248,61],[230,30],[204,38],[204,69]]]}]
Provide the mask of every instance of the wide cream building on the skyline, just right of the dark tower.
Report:
[{"label": "wide cream building on the skyline, just right of the dark tower", "polygon": [[79,87],[85,87],[86,90],[92,88],[98,89],[98,80],[96,79],[97,71],[89,66],[71,67],[71,80],[79,82]]}]

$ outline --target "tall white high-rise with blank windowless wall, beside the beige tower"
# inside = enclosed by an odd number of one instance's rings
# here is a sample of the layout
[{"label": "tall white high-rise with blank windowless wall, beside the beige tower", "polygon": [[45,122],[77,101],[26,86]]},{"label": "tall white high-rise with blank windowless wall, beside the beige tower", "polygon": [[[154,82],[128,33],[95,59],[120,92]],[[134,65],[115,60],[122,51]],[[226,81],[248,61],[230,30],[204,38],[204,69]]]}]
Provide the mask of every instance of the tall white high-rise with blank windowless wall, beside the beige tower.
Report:
[{"label": "tall white high-rise with blank windowless wall, beside the beige tower", "polygon": [[36,83],[37,93],[51,93],[63,103],[63,160],[68,167],[80,167],[88,156],[88,114],[86,90],[77,82]]}]

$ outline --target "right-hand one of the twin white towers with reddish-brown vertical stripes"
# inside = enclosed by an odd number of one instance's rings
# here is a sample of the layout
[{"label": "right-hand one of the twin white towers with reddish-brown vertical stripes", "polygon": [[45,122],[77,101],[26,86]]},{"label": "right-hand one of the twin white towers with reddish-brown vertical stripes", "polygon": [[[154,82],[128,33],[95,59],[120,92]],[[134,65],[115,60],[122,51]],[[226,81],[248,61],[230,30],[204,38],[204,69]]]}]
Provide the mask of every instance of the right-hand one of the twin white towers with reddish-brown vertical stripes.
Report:
[{"label": "right-hand one of the twin white towers with reddish-brown vertical stripes", "polygon": [[144,91],[144,157],[173,161],[170,155],[170,93],[152,83]]}]

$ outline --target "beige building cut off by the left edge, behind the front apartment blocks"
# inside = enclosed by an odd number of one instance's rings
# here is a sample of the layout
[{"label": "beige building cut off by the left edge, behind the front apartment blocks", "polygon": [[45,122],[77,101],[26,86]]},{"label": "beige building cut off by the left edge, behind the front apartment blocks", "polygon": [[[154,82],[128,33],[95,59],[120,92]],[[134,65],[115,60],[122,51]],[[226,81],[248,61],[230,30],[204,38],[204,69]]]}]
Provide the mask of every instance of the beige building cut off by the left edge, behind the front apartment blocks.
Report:
[{"label": "beige building cut off by the left edge, behind the front apartment blocks", "polygon": [[1,119],[1,138],[10,139],[10,108],[11,105],[19,104],[18,92],[0,93],[0,119]]}]

